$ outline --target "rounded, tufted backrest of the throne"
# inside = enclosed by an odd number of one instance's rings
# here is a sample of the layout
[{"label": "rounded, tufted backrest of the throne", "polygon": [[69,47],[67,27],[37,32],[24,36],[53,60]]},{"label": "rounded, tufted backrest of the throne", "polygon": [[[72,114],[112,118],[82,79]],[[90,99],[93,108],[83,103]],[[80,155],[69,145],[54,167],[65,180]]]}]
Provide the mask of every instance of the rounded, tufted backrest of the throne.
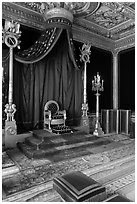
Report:
[{"label": "rounded, tufted backrest of the throne", "polygon": [[45,111],[51,111],[51,114],[55,114],[59,111],[59,105],[56,101],[50,100],[45,104]]}]

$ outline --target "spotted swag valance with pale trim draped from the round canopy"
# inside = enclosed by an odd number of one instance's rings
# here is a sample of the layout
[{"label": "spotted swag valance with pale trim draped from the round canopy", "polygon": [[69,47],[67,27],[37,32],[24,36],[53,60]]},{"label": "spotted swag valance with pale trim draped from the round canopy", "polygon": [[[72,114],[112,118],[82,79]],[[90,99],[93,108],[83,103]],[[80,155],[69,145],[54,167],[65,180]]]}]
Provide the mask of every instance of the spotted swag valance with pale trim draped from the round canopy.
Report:
[{"label": "spotted swag valance with pale trim draped from the round canopy", "polygon": [[75,59],[75,50],[71,32],[71,23],[67,19],[54,18],[45,24],[46,30],[40,38],[28,49],[16,53],[15,59],[21,63],[35,63],[42,60],[53,49],[63,30],[67,32],[70,58],[76,69],[79,69]]}]

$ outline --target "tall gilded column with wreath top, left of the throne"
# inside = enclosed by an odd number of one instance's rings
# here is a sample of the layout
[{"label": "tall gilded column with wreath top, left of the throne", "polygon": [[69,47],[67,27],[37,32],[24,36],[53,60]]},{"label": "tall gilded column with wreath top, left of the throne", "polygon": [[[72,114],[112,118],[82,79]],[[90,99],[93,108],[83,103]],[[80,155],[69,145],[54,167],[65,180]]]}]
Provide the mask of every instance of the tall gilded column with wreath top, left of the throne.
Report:
[{"label": "tall gilded column with wreath top, left of the throne", "polygon": [[9,146],[12,135],[17,134],[16,121],[14,114],[16,112],[16,106],[13,104],[13,49],[19,47],[20,41],[18,38],[21,36],[19,31],[20,25],[14,21],[5,21],[4,28],[2,29],[2,42],[9,47],[9,91],[8,91],[8,103],[5,105],[5,113],[7,115],[5,121],[5,146]]}]

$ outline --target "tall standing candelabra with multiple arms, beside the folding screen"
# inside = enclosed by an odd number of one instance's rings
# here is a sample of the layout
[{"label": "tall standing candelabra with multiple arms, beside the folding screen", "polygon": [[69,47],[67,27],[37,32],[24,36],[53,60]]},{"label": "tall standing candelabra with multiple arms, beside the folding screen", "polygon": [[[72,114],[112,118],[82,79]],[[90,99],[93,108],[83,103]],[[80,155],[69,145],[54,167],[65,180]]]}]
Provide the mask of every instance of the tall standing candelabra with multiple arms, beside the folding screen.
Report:
[{"label": "tall standing candelabra with multiple arms, beside the folding screen", "polygon": [[104,134],[99,123],[99,91],[104,91],[103,83],[104,81],[102,80],[101,82],[99,73],[97,72],[97,76],[94,76],[94,80],[92,80],[92,91],[96,91],[96,121],[95,130],[93,132],[93,135],[96,136]]}]

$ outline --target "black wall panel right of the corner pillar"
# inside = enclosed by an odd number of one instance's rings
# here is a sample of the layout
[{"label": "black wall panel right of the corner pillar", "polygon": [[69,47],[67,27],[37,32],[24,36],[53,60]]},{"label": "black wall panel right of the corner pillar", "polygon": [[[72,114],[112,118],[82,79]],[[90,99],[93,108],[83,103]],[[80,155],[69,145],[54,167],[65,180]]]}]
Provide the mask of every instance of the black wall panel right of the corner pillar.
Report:
[{"label": "black wall panel right of the corner pillar", "polygon": [[135,48],[119,53],[120,109],[135,110]]}]

